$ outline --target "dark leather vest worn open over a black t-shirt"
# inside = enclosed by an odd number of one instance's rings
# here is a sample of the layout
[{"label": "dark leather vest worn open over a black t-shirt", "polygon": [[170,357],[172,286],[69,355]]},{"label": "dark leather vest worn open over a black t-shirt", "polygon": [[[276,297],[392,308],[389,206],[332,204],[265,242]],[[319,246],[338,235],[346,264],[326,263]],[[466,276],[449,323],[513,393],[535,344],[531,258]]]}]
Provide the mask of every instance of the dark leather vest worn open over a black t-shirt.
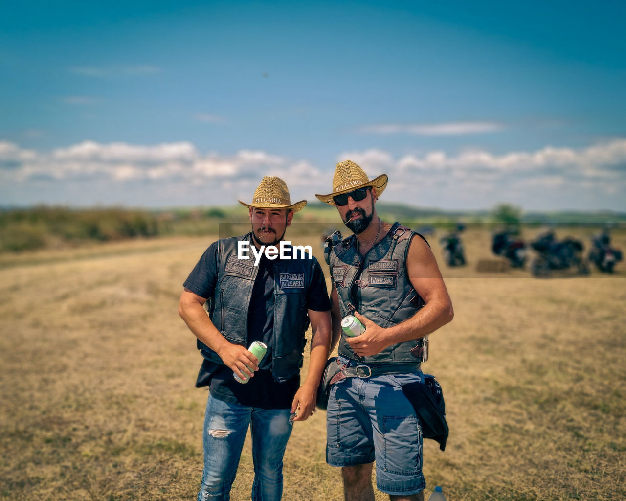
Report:
[{"label": "dark leather vest worn open over a black t-shirt", "polygon": [[[259,269],[254,266],[254,257],[237,259],[237,242],[242,240],[254,245],[252,234],[218,240],[217,284],[209,298],[208,313],[213,325],[230,343],[247,346],[248,307]],[[272,374],[279,383],[300,373],[306,344],[304,333],[309,327],[306,293],[317,260],[312,256],[310,259],[301,257],[300,253],[297,257],[272,262],[274,334],[267,349],[272,354]],[[223,364],[218,354],[200,341],[198,349],[205,358]]]}]

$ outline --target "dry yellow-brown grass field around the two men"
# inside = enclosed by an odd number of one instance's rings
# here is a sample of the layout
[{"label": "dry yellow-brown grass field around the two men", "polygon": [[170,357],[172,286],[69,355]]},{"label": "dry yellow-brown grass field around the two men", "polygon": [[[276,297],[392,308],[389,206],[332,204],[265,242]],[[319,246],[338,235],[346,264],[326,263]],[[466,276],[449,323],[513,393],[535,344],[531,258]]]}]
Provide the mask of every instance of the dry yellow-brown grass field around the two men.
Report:
[{"label": "dry yellow-brown grass field around the two men", "polygon": [[[195,499],[207,392],[193,386],[200,354],[177,302],[212,240],[0,256],[0,500]],[[451,430],[445,452],[425,443],[427,497],[442,485],[449,501],[625,499],[626,264],[480,273],[489,234],[464,240],[468,266],[448,269],[431,239],[455,318],[424,365]],[[285,501],[342,499],[325,436],[323,411],[296,423]],[[251,480],[248,443],[233,500]]]}]

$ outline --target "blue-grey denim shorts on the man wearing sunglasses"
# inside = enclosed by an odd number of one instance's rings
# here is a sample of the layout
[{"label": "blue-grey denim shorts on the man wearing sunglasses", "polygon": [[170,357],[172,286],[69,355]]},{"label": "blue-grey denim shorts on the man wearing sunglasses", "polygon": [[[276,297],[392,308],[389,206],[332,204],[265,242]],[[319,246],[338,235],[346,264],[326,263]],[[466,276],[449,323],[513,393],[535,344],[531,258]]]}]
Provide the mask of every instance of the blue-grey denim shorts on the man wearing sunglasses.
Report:
[{"label": "blue-grey denim shorts on the man wearing sunglasses", "polygon": [[381,492],[411,495],[423,490],[422,430],[402,391],[402,385],[415,381],[424,382],[421,371],[346,378],[332,385],[326,462],[346,467],[376,461],[376,487]]}]

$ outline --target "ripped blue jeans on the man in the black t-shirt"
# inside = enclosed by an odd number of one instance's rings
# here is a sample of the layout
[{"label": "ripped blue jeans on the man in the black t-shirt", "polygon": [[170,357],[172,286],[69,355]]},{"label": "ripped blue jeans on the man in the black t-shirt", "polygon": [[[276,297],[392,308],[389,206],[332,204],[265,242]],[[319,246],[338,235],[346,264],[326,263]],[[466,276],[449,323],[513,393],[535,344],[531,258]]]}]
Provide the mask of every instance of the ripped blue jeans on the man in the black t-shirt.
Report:
[{"label": "ripped blue jeans on the man in the black t-shirt", "polygon": [[208,396],[204,471],[198,501],[228,501],[248,426],[252,430],[252,501],[280,501],[282,458],[291,435],[290,409],[265,410]]}]

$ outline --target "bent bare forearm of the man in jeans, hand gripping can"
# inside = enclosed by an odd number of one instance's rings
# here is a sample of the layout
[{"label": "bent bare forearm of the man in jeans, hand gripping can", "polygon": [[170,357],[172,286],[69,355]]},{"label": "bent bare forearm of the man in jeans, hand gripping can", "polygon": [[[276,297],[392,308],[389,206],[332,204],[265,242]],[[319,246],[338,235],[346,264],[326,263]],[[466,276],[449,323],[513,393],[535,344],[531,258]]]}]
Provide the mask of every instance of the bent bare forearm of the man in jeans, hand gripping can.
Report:
[{"label": "bent bare forearm of the man in jeans, hand gripping can", "polygon": [[[232,344],[222,336],[208,317],[203,304],[207,301],[204,297],[194,294],[185,289],[178,301],[178,314],[185,321],[192,333],[217,353],[228,367],[240,378],[244,373],[254,376],[254,371],[259,369],[259,360],[244,346]],[[249,369],[250,368],[250,369]]]}]

